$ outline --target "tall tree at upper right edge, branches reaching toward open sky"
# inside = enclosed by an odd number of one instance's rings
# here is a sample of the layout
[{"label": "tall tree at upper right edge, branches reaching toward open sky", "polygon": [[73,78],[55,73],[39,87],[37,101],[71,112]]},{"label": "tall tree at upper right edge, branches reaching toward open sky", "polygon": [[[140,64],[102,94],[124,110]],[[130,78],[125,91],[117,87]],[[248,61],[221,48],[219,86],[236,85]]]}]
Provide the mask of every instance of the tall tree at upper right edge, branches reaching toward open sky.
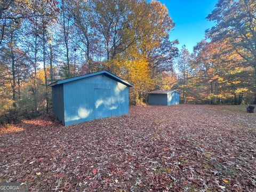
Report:
[{"label": "tall tree at upper right edge, branches reaching toward open sky", "polygon": [[254,102],[256,103],[256,2],[253,0],[220,1],[206,18],[216,25],[206,31],[214,42],[227,41],[254,68]]}]

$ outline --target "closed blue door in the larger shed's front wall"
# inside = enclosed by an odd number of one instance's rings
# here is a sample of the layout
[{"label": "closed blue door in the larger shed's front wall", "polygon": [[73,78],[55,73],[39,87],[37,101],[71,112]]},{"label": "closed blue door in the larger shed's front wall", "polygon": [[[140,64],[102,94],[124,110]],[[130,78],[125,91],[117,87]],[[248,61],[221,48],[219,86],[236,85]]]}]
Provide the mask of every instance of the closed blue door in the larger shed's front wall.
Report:
[{"label": "closed blue door in the larger shed's front wall", "polygon": [[111,116],[110,107],[112,105],[110,89],[94,89],[94,118],[104,118]]}]

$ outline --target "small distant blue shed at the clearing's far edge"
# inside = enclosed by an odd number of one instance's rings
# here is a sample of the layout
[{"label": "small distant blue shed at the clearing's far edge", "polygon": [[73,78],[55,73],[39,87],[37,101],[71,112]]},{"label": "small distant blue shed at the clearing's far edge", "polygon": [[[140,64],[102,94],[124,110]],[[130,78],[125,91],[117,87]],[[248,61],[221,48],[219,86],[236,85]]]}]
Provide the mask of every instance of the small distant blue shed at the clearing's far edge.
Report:
[{"label": "small distant blue shed at the clearing's far edge", "polygon": [[148,103],[151,105],[178,105],[180,93],[178,91],[151,91],[148,92]]}]

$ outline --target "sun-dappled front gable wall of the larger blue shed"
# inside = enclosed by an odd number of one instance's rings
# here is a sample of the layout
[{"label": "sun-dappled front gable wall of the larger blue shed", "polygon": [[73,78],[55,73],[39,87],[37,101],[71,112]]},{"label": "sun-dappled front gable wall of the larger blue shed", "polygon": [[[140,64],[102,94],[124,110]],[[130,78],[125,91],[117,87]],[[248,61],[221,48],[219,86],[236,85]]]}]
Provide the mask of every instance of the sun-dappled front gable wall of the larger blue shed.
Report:
[{"label": "sun-dappled front gable wall of the larger blue shed", "polygon": [[65,125],[129,113],[129,87],[101,74],[63,84]]}]

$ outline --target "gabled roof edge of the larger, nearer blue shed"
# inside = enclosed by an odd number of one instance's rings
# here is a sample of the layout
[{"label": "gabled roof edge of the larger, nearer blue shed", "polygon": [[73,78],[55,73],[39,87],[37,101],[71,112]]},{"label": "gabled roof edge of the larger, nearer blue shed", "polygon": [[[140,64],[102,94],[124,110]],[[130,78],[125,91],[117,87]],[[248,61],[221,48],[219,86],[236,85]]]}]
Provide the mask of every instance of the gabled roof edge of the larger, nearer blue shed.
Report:
[{"label": "gabled roof edge of the larger, nearer blue shed", "polygon": [[49,84],[48,87],[51,87],[51,86],[54,86],[54,85],[59,85],[59,84],[62,84],[62,83],[68,83],[68,82],[71,82],[71,81],[76,81],[76,80],[82,79],[82,78],[92,77],[92,76],[95,76],[95,75],[101,75],[101,74],[105,74],[105,75],[109,76],[110,78],[113,78],[116,81],[118,81],[120,83],[123,83],[126,86],[133,87],[133,84],[131,84],[129,82],[126,82],[124,79],[114,75],[113,73],[110,73],[107,70],[97,71],[97,72],[90,73],[90,74],[79,75],[79,76],[76,76],[76,77],[71,77],[71,78],[66,78],[66,79],[62,79],[62,80],[59,80],[59,81],[55,81],[55,82]]}]

